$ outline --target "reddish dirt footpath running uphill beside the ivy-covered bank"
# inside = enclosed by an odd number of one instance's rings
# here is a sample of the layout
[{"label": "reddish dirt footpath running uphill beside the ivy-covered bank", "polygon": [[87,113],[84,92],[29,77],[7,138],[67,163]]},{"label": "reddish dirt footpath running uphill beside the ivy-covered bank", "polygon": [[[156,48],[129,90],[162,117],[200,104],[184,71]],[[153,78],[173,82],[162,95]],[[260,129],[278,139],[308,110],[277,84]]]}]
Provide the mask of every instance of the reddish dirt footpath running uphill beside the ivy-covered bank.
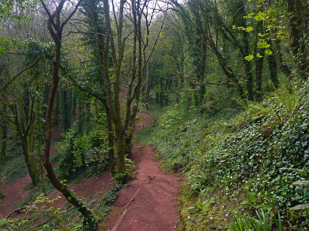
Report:
[{"label": "reddish dirt footpath running uphill beside the ivy-covered bank", "polygon": [[[136,132],[150,121],[147,112],[142,112],[141,117],[144,119],[136,124]],[[121,225],[114,226],[112,230],[177,230],[176,199],[182,179],[162,172],[151,146],[133,144],[129,158],[137,164],[135,170],[137,179],[131,182],[129,188],[122,188],[118,192],[116,209],[108,218],[109,229],[115,225],[119,213],[127,208],[128,211],[125,212],[126,215]]]}]

